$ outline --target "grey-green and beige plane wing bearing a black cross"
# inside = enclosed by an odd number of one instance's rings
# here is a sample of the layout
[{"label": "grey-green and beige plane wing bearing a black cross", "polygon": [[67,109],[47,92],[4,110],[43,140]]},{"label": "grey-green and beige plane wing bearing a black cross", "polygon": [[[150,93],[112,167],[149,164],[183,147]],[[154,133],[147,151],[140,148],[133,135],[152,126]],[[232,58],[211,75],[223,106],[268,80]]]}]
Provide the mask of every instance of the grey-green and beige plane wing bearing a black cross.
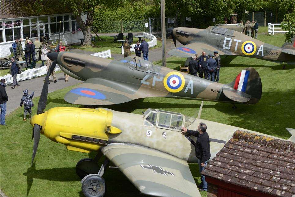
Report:
[{"label": "grey-green and beige plane wing bearing a black cross", "polygon": [[144,195],[200,197],[187,161],[143,146],[113,143],[103,154]]}]

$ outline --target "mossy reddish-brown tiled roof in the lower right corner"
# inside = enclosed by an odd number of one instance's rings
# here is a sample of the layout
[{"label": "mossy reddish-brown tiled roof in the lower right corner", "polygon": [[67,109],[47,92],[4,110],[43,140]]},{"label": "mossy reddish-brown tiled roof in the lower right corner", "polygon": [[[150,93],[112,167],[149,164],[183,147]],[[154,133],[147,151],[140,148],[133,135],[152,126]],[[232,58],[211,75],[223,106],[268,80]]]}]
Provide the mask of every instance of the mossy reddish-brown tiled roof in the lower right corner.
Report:
[{"label": "mossy reddish-brown tiled roof in the lower right corner", "polygon": [[201,172],[274,196],[295,196],[295,143],[236,131]]}]

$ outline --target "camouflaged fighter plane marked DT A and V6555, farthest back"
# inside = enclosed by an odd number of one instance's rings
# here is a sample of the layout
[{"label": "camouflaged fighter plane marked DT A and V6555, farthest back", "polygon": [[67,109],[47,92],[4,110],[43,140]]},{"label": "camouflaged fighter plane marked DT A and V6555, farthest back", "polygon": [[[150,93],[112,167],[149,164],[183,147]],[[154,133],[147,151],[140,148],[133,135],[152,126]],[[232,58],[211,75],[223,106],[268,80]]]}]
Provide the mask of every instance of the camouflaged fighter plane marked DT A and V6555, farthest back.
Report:
[{"label": "camouflaged fighter plane marked DT A and V6555, farthest back", "polygon": [[169,55],[190,58],[196,53],[201,55],[202,51],[208,54],[216,50],[219,55],[239,55],[295,65],[295,38],[293,44],[285,43],[280,48],[222,26],[207,29],[177,27],[168,28],[166,32],[166,37],[172,36],[175,46],[176,40],[185,45],[168,51]]}]

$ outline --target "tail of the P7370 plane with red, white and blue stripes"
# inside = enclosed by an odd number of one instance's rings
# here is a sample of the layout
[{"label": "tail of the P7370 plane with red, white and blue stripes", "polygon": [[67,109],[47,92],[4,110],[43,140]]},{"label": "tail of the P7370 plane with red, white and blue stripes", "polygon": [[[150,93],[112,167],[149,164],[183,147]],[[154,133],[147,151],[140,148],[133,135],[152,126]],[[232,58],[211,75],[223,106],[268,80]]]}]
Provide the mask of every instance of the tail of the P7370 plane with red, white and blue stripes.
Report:
[{"label": "tail of the P7370 plane with red, white and blue stripes", "polygon": [[261,98],[261,79],[258,72],[252,67],[243,69],[237,77],[227,85],[229,88],[222,88],[222,92],[231,100],[255,104],[258,103]]}]

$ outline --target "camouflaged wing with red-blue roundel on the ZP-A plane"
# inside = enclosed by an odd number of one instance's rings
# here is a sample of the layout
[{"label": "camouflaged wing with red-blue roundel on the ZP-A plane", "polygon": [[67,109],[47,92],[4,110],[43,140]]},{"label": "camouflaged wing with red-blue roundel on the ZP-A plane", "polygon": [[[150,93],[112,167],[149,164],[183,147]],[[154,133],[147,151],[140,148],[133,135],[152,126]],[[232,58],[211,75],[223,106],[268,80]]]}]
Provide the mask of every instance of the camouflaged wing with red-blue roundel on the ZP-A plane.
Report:
[{"label": "camouflaged wing with red-blue roundel on the ZP-A plane", "polygon": [[125,103],[145,97],[169,97],[169,94],[147,86],[104,78],[84,81],[66,93],[64,100],[81,105],[109,105]]}]

